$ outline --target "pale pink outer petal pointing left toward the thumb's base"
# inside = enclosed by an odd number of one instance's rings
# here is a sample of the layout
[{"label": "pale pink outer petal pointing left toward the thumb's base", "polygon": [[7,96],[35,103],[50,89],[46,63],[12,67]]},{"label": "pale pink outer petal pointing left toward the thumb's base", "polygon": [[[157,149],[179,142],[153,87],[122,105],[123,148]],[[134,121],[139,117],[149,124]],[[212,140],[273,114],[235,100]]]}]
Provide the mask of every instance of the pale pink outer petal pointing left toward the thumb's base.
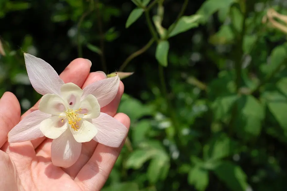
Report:
[{"label": "pale pink outer petal pointing left toward the thumb's base", "polygon": [[44,134],[40,131],[40,123],[49,117],[51,115],[43,113],[40,110],[33,111],[12,128],[8,133],[8,142],[21,143],[44,137]]}]

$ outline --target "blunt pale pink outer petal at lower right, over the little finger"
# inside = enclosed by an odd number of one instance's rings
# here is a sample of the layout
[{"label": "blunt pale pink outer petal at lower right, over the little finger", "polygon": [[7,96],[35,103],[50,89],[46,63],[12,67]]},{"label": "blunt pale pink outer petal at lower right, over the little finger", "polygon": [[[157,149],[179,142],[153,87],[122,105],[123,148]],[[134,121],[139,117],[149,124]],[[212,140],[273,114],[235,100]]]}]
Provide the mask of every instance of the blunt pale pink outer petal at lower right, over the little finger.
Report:
[{"label": "blunt pale pink outer petal at lower right, over the little finger", "polygon": [[126,126],[106,113],[92,119],[92,123],[98,129],[93,140],[110,147],[119,147],[128,133]]}]

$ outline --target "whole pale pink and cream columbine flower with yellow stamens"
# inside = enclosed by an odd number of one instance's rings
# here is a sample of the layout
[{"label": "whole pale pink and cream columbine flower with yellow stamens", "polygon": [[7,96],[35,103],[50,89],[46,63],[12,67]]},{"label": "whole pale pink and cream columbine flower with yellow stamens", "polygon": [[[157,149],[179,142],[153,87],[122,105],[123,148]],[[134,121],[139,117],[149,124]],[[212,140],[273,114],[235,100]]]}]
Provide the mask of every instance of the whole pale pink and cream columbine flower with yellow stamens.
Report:
[{"label": "whole pale pink and cream columbine flower with yellow stamens", "polygon": [[92,139],[119,147],[127,128],[100,108],[116,96],[118,76],[88,85],[83,90],[73,83],[65,84],[44,60],[24,54],[30,82],[43,95],[39,110],[26,116],[8,133],[9,143],[53,139],[51,159],[55,166],[69,167],[80,156],[82,143]]}]

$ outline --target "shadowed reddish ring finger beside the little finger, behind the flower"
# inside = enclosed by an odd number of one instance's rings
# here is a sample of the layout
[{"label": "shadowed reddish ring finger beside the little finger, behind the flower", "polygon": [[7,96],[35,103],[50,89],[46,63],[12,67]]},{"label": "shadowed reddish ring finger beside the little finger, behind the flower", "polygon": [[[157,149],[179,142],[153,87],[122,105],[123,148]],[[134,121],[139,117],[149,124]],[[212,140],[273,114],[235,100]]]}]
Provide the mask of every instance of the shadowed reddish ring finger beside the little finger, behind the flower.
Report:
[{"label": "shadowed reddish ring finger beside the little finger, behind the flower", "polygon": [[[89,78],[87,78],[86,82],[89,82]],[[117,112],[117,107],[120,103],[120,99],[123,95],[123,91],[124,91],[124,86],[123,86],[123,83],[120,82],[119,90],[117,92],[115,99],[113,99],[113,101],[109,103],[108,105],[106,105],[105,107],[101,108],[101,112],[107,113],[112,117],[115,116]],[[93,140],[87,143],[82,143],[82,151],[81,151],[79,159],[73,166],[67,169],[64,169],[64,171],[67,172],[71,176],[72,179],[74,179],[76,175],[79,173],[79,171],[83,168],[83,166],[91,158],[96,147],[97,147],[97,142]]]}]

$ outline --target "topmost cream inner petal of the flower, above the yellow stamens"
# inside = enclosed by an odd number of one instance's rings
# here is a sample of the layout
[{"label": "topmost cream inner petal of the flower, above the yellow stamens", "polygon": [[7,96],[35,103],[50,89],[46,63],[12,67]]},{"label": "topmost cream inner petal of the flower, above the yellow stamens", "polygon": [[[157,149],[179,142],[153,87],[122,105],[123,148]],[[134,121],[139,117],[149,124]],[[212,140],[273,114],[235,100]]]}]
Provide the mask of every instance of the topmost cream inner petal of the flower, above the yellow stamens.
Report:
[{"label": "topmost cream inner petal of the flower, above the yellow stamens", "polygon": [[61,96],[69,104],[71,109],[79,109],[80,99],[83,94],[83,90],[73,83],[63,84],[61,86]]}]

